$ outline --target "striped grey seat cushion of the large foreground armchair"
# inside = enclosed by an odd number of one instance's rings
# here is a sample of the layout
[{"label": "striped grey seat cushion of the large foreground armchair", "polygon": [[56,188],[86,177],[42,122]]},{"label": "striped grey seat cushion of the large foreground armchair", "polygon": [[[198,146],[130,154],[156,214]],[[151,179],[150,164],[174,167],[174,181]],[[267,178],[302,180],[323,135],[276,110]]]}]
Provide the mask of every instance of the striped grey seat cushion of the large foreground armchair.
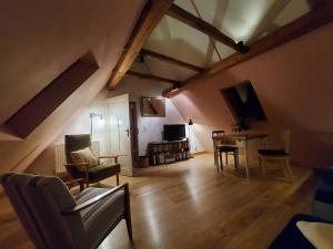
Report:
[{"label": "striped grey seat cushion of the large foreground armchair", "polygon": [[[75,196],[78,204],[82,204],[98,195],[108,191],[109,188],[87,188]],[[85,236],[84,247],[94,248],[102,239],[100,235],[107,234],[112,224],[123,218],[124,212],[124,191],[120,190],[110,195],[99,203],[80,211]]]}]

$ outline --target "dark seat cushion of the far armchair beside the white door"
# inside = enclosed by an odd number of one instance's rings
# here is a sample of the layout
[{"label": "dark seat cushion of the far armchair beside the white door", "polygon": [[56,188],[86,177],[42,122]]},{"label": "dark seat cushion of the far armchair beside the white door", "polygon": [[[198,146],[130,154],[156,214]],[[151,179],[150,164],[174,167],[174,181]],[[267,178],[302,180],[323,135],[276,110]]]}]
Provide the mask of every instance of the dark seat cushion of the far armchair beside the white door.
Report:
[{"label": "dark seat cushion of the far armchair beside the white door", "polygon": [[[109,164],[109,165],[101,165],[89,168],[89,181],[95,183],[107,177],[114,176],[115,174],[120,173],[120,164]],[[85,175],[83,172],[75,170],[74,172],[75,178],[84,178]]]}]

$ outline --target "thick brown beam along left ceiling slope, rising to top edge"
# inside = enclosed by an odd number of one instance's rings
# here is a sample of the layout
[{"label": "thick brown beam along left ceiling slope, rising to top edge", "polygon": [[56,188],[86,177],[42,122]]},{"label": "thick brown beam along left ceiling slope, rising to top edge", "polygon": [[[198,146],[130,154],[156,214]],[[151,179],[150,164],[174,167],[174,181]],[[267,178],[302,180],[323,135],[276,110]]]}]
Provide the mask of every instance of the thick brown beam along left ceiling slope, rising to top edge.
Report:
[{"label": "thick brown beam along left ceiling slope, rising to top edge", "polygon": [[113,69],[108,84],[109,90],[113,90],[119,84],[120,80],[134,62],[150,33],[160,22],[173,1],[174,0],[149,0],[147,2],[124,51]]}]

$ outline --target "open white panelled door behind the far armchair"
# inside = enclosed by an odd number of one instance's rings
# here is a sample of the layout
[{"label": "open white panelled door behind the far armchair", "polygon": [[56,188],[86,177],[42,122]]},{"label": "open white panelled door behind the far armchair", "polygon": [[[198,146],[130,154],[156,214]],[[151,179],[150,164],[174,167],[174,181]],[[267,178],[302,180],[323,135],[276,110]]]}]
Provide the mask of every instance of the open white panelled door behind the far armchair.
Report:
[{"label": "open white panelled door behind the far armchair", "polygon": [[132,176],[129,94],[107,100],[109,153],[119,157],[121,174]]}]

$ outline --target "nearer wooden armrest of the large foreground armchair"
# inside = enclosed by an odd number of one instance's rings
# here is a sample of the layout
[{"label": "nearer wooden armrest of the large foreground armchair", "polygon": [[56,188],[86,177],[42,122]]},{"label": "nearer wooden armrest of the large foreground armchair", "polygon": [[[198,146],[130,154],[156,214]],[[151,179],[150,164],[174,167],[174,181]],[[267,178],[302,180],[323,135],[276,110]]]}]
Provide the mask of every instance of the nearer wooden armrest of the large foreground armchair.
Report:
[{"label": "nearer wooden armrest of the large foreground armchair", "polygon": [[[108,191],[105,191],[105,193],[103,193],[101,195],[98,195],[98,196],[95,196],[95,197],[93,197],[93,198],[91,198],[89,200],[85,200],[84,203],[79,204],[79,205],[77,205],[75,207],[73,207],[73,208],[71,208],[69,210],[64,210],[61,214],[62,215],[72,215],[74,212],[81,211],[82,209],[90,207],[91,205],[93,205],[93,204],[102,200],[103,198],[105,198],[105,197],[108,197],[108,196],[110,196],[110,195],[119,191],[122,188],[124,189],[125,195],[129,195],[129,184],[122,184],[120,186],[111,188],[110,190],[108,190]],[[125,198],[127,198],[127,196],[125,196]]]}]

